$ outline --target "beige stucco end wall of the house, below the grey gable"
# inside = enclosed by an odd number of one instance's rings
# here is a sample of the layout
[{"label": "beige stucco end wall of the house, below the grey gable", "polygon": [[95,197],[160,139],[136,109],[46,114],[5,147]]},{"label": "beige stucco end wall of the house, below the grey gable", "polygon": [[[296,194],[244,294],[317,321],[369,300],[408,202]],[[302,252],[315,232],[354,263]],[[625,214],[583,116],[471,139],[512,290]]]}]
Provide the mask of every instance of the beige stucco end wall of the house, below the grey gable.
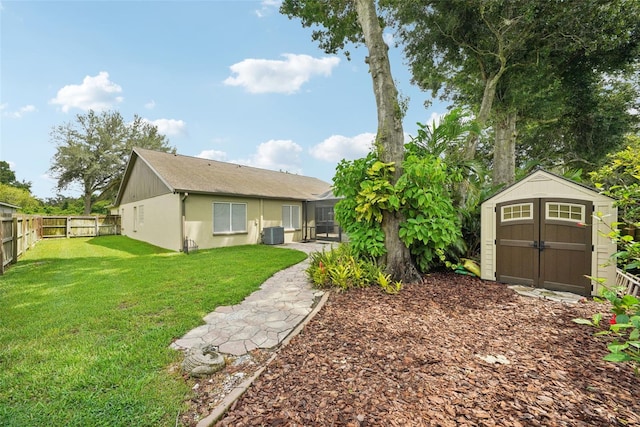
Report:
[{"label": "beige stucco end wall of the house, below the grey gable", "polygon": [[[134,210],[142,221],[134,220]],[[134,209],[135,208],[135,209]],[[122,204],[118,213],[122,216],[122,234],[162,248],[179,251],[181,242],[180,195],[165,194],[132,203]]]}]

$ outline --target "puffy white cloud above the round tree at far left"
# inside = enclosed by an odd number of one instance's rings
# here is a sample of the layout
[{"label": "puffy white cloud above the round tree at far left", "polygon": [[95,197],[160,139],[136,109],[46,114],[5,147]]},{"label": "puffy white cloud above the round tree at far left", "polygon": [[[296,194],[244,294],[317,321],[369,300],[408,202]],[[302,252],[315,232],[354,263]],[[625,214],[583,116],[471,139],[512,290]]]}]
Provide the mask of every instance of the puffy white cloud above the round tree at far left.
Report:
[{"label": "puffy white cloud above the round tree at far left", "polygon": [[100,71],[97,76],[85,76],[82,84],[63,87],[49,103],[61,105],[65,113],[72,108],[101,111],[122,102],[120,93],[122,87],[109,80],[109,73]]}]

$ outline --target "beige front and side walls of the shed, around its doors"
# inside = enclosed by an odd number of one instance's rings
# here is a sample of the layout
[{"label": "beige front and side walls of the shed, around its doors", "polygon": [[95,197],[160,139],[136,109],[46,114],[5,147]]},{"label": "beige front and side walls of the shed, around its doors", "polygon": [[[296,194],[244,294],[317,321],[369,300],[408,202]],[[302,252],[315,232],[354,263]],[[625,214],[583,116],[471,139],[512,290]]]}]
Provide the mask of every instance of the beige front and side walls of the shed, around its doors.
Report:
[{"label": "beige front and side walls of the shed, around its doors", "polygon": [[[589,221],[593,222],[594,225],[591,236],[591,241],[594,245],[591,272],[595,277],[605,278],[609,284],[615,283],[615,263],[611,264],[609,261],[611,255],[616,251],[616,245],[602,235],[603,233],[606,234],[607,225],[618,219],[618,211],[613,206],[613,200],[579,184],[544,171],[535,172],[482,203],[480,227],[481,277],[486,280],[495,280],[496,205],[520,199],[547,197],[587,200],[593,203],[595,212],[601,212],[604,215],[606,224],[602,224],[595,219]],[[597,293],[597,286],[594,286],[592,294],[596,295]]]}]

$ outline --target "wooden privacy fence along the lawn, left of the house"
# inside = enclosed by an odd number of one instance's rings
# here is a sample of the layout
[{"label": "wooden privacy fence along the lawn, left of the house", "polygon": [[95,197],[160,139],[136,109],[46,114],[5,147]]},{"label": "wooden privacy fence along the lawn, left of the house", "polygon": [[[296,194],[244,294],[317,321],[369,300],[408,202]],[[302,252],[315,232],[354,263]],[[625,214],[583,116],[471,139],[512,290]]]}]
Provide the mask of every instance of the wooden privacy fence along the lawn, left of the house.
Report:
[{"label": "wooden privacy fence along the lawn, left of the house", "polygon": [[3,216],[0,220],[0,274],[40,239],[120,234],[120,216]]}]

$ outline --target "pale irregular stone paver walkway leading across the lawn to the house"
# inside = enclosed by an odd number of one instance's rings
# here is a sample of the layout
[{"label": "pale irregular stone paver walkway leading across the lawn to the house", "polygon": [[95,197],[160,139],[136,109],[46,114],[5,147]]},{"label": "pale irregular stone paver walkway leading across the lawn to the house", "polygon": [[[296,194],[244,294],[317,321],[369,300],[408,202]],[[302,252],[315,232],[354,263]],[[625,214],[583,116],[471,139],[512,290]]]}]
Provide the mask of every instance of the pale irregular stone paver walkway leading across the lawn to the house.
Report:
[{"label": "pale irregular stone paver walkway leading across the lawn to the house", "polygon": [[[306,253],[331,249],[330,243],[290,243],[278,247]],[[323,292],[311,287],[309,259],[281,270],[240,304],[218,307],[202,326],[171,344],[177,350],[215,345],[220,353],[241,356],[256,348],[272,348],[284,340],[313,309]]]}]

